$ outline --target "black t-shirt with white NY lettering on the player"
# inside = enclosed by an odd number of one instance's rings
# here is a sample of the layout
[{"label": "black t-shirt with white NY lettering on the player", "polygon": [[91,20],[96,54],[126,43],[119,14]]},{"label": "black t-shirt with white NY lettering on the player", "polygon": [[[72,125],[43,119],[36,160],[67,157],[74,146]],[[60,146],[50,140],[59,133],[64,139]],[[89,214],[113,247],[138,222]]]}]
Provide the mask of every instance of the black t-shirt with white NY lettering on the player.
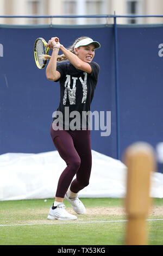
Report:
[{"label": "black t-shirt with white NY lettering on the player", "polygon": [[[63,115],[63,127],[67,127],[67,125],[69,127],[71,120],[75,121],[74,118],[76,118],[76,121],[79,121],[79,115],[80,121],[78,122],[77,127],[79,128],[80,126],[82,129],[85,124],[82,124],[82,114],[90,111],[99,74],[99,65],[96,62],[91,62],[89,64],[92,68],[91,74],[76,69],[71,63],[57,65],[57,71],[60,72],[59,80],[55,81],[60,82],[60,103],[57,111],[60,111]],[[72,111],[77,111],[78,113]],[[70,116],[67,119],[68,113]],[[78,117],[75,115],[76,113]],[[53,120],[56,120],[57,117],[58,115],[55,114]],[[87,121],[86,127],[88,127]]]}]

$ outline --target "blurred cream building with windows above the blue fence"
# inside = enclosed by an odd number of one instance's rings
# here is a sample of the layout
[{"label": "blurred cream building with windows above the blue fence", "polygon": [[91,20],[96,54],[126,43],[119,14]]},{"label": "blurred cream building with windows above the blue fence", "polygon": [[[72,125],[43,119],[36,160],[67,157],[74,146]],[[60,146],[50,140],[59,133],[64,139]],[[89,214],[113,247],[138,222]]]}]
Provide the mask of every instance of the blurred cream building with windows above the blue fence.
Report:
[{"label": "blurred cream building with windows above the blue fence", "polygon": [[[163,15],[162,0],[0,0],[0,15]],[[1,24],[97,24],[113,19],[0,18]],[[118,18],[117,23],[163,23],[163,17]]]}]

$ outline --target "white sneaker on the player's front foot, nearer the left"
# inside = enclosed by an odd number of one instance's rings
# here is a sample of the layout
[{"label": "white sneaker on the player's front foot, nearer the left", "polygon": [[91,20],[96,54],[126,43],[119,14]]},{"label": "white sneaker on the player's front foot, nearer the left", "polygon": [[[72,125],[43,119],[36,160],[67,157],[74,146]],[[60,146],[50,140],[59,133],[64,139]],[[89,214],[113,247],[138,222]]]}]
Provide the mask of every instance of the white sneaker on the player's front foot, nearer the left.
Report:
[{"label": "white sneaker on the player's front foot, nearer the left", "polygon": [[48,220],[76,220],[77,216],[69,214],[65,210],[65,204],[60,203],[57,206],[51,206],[51,209],[49,210],[49,214],[47,216]]}]

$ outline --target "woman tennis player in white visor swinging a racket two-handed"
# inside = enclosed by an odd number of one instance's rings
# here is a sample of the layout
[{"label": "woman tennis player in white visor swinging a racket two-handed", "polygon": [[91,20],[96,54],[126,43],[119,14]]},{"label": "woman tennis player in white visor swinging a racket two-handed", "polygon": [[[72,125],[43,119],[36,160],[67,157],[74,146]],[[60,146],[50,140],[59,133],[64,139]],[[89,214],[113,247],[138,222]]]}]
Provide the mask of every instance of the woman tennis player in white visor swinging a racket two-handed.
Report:
[{"label": "woman tennis player in white visor swinging a racket two-handed", "polygon": [[[92,60],[95,49],[101,45],[89,37],[81,37],[70,49],[66,49],[55,39],[57,38],[51,38],[47,44],[53,49],[53,53],[46,68],[48,80],[60,82],[60,103],[51,125],[51,137],[67,167],[60,175],[55,200],[47,218],[76,220],[77,216],[69,214],[63,202],[64,198],[68,200],[76,214],[86,212],[78,198],[78,192],[89,185],[92,156],[89,122],[84,115],[83,122],[82,114],[90,111],[99,74],[99,65]],[[60,56],[59,50],[62,52]],[[57,65],[61,60],[69,62]],[[74,111],[80,117],[76,119],[76,129],[71,126]],[[59,113],[62,117],[60,119]],[[73,180],[74,175],[76,178]]]}]

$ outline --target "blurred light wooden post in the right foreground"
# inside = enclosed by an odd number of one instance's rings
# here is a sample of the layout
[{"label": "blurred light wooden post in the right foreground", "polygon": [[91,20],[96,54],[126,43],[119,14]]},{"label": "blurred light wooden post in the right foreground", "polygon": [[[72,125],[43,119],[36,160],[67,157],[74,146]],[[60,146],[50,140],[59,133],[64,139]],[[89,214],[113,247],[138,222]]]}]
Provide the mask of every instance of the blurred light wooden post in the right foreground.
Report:
[{"label": "blurred light wooden post in the right foreground", "polygon": [[127,234],[126,245],[147,245],[146,218],[151,206],[151,174],[155,170],[155,156],[151,145],[137,142],[124,153],[127,170]]}]

